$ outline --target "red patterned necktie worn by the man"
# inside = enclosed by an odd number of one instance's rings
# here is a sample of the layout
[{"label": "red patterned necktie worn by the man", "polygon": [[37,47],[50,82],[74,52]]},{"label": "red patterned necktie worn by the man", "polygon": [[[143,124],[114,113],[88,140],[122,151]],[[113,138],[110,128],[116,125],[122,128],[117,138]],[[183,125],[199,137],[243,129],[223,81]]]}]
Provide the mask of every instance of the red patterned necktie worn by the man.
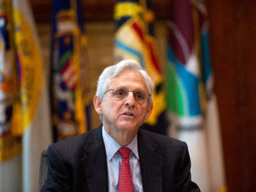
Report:
[{"label": "red patterned necktie worn by the man", "polygon": [[128,147],[121,147],[118,149],[118,152],[122,156],[122,164],[120,167],[119,174],[119,186],[118,192],[133,192],[133,184],[132,184],[132,174],[129,163],[129,155],[131,149]]}]

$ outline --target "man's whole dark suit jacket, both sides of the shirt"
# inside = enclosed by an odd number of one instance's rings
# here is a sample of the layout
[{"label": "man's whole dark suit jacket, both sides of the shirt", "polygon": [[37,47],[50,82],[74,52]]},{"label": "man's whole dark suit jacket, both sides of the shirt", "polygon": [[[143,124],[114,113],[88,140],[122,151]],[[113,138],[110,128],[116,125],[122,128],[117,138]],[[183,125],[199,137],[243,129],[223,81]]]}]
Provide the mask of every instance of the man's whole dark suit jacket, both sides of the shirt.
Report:
[{"label": "man's whole dark suit jacket, both sides of the shirt", "polygon": [[[139,129],[138,152],[144,192],[200,191],[191,181],[186,143]],[[107,192],[102,127],[52,144],[47,150],[47,166],[42,191]]]}]

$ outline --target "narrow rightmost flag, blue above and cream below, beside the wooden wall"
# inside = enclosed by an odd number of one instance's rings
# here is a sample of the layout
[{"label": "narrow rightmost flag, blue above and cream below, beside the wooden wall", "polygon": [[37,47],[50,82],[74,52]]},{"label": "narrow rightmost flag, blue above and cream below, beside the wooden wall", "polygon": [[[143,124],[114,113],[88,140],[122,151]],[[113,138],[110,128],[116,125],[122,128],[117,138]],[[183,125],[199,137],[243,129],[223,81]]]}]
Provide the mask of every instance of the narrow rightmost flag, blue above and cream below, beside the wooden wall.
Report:
[{"label": "narrow rightmost flag, blue above and cream below, beside the wooden wall", "polygon": [[202,63],[202,81],[207,100],[205,109],[205,129],[207,134],[207,145],[210,166],[211,191],[227,191],[225,184],[225,169],[223,161],[222,141],[220,134],[220,119],[218,117],[217,99],[214,95],[211,68],[211,57],[209,51],[208,30],[209,24],[206,20],[207,11],[204,1],[195,3],[195,10],[200,20],[200,41],[201,41],[201,63]]}]

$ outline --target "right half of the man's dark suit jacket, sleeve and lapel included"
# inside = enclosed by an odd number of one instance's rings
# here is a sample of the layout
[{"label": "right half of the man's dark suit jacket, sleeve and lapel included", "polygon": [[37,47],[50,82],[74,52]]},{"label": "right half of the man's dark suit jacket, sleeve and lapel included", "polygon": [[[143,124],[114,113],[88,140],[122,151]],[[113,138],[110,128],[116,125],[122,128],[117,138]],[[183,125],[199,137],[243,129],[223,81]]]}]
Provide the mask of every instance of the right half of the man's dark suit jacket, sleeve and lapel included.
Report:
[{"label": "right half of the man's dark suit jacket, sleeve and lapel included", "polygon": [[185,142],[141,129],[138,150],[144,191],[200,191]]}]

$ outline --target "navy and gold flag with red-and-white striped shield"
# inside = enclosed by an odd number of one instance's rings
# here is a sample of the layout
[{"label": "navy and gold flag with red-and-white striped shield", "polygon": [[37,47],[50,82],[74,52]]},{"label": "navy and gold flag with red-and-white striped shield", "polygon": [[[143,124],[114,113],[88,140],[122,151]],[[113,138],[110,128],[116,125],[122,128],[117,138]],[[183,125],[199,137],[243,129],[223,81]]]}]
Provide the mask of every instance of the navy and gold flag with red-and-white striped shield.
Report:
[{"label": "navy and gold flag with red-and-white striped shield", "polygon": [[54,141],[90,130],[86,37],[79,0],[54,0],[51,104]]}]

